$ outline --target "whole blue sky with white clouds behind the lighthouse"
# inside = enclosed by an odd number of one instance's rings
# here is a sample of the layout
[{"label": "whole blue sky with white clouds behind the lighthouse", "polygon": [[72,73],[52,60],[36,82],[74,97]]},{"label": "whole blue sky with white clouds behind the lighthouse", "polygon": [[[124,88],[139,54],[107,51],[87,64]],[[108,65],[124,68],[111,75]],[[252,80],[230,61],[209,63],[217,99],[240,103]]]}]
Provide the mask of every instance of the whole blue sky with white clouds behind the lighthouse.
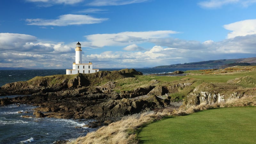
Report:
[{"label": "whole blue sky with white clouds behind the lighthouse", "polygon": [[70,69],[256,57],[256,0],[1,0],[0,67]]}]

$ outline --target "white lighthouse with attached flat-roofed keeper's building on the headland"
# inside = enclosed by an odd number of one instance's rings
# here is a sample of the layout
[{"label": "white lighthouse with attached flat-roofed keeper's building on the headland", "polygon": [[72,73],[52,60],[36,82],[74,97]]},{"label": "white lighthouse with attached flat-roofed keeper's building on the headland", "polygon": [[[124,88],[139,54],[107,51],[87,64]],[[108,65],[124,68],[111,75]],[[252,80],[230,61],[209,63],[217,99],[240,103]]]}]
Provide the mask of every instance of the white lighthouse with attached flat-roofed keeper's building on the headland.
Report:
[{"label": "white lighthouse with attached flat-roofed keeper's building on the headland", "polygon": [[76,44],[76,61],[73,62],[73,69],[66,69],[66,75],[74,75],[78,73],[89,74],[97,71],[99,71],[99,69],[92,69],[92,62],[82,63],[82,48],[81,44],[78,42]]}]

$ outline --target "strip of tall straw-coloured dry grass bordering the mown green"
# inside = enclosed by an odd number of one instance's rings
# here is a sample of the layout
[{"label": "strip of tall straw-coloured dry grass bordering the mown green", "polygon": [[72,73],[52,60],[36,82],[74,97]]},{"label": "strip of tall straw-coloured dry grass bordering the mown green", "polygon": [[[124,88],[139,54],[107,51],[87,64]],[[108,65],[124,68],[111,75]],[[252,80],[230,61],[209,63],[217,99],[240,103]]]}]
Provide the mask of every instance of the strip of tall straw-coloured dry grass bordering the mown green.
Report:
[{"label": "strip of tall straw-coloured dry grass bordering the mown green", "polygon": [[144,124],[162,119],[164,116],[184,116],[197,111],[206,110],[213,107],[244,107],[256,106],[256,96],[242,97],[241,99],[229,100],[226,103],[217,103],[208,105],[201,103],[188,109],[179,109],[162,112],[142,113],[132,116],[126,116],[122,120],[103,126],[95,132],[87,133],[85,137],[80,137],[68,144],[136,144],[136,129]]}]

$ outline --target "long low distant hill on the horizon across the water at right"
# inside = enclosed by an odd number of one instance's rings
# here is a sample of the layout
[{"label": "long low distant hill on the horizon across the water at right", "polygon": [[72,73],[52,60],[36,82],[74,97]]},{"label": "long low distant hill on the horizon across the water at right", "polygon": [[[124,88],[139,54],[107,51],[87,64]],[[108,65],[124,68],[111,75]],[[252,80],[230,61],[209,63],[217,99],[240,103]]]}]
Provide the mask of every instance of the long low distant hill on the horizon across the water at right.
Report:
[{"label": "long low distant hill on the horizon across the water at right", "polygon": [[190,62],[184,64],[174,64],[169,66],[157,66],[154,68],[227,68],[231,66],[250,66],[256,65],[256,57],[243,59],[223,59],[223,60],[208,60],[199,62]]}]

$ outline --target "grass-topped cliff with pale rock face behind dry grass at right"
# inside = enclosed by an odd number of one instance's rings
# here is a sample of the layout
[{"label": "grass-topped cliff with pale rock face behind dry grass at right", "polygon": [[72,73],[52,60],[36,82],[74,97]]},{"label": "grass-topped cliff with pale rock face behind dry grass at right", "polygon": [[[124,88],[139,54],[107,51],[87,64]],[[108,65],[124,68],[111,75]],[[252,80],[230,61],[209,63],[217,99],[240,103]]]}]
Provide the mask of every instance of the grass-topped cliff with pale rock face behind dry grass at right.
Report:
[{"label": "grass-topped cliff with pale rock face behind dry grass at right", "polygon": [[187,109],[200,103],[216,106],[234,99],[255,96],[255,81],[254,77],[243,76],[229,80],[227,83],[202,82],[188,93],[181,108]]}]

